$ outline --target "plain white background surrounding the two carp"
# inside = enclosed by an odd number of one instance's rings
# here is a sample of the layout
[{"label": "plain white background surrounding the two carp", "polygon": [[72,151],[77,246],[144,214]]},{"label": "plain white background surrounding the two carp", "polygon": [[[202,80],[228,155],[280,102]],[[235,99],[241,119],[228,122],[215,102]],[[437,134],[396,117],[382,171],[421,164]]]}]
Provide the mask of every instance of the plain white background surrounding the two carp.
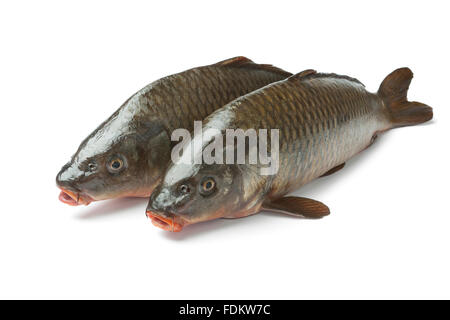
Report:
[{"label": "plain white background surrounding the two carp", "polygon": [[[0,298],[450,298],[445,1],[121,3],[0,4]],[[172,234],[145,199],[58,201],[60,167],[131,94],[237,55],[371,91],[408,66],[410,99],[435,119],[299,190],[331,208],[322,220],[262,213]]]}]

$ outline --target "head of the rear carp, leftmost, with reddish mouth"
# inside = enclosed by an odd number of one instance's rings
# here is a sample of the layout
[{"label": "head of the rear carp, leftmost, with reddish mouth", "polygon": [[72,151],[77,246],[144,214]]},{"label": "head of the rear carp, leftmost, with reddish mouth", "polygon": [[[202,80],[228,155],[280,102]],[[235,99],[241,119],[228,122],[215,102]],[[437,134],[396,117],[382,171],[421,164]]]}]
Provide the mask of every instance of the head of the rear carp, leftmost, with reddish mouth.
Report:
[{"label": "head of the rear carp, leftmost, with reddish mouth", "polygon": [[151,194],[168,162],[169,137],[157,123],[134,123],[128,129],[101,127],[81,143],[56,177],[63,203]]}]

